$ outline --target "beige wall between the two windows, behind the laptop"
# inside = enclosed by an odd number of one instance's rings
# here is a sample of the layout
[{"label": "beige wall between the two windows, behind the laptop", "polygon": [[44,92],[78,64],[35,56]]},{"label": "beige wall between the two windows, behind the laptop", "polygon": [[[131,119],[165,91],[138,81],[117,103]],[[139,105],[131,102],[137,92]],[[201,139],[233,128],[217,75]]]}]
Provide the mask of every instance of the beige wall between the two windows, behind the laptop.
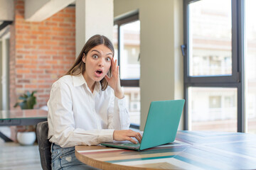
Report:
[{"label": "beige wall between the two windows, behind the laptop", "polygon": [[[183,98],[183,1],[114,0],[114,18],[139,9],[141,130],[149,104]],[[183,127],[183,118],[179,129]]]}]

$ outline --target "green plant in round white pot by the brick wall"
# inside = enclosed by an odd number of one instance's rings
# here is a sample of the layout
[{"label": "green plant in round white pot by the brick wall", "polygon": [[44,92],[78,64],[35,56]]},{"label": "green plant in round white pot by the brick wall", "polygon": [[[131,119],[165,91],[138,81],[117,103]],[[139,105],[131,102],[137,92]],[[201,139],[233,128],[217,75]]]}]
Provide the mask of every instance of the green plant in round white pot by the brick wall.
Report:
[{"label": "green plant in round white pot by the brick wall", "polygon": [[[14,108],[20,106],[21,109],[33,109],[36,105],[36,96],[34,94],[36,94],[36,91],[32,91],[32,93],[27,91],[19,96],[20,102],[17,102]],[[26,125],[25,127],[25,130],[17,132],[17,140],[21,145],[33,145],[36,141],[36,128],[34,125]]]}]

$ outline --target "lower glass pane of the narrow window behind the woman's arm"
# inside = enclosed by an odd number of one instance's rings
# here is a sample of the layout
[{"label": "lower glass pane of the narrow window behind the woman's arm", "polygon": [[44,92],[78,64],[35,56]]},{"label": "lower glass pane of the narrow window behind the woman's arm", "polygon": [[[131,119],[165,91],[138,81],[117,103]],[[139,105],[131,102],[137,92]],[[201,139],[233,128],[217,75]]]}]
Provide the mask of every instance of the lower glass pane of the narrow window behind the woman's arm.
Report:
[{"label": "lower glass pane of the narrow window behind the woman's arm", "polygon": [[123,87],[131,123],[140,125],[140,89]]}]

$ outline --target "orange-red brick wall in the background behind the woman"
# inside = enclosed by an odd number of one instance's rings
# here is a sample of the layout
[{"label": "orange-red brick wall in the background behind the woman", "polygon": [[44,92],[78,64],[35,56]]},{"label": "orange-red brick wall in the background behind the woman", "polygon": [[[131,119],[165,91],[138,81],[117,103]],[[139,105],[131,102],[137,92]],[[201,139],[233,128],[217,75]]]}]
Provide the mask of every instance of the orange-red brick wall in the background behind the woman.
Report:
[{"label": "orange-red brick wall in the background behind the woman", "polygon": [[10,30],[10,109],[25,91],[37,91],[35,108],[44,106],[53,81],[75,61],[75,7],[68,6],[46,21],[27,22],[24,1],[15,1]]}]

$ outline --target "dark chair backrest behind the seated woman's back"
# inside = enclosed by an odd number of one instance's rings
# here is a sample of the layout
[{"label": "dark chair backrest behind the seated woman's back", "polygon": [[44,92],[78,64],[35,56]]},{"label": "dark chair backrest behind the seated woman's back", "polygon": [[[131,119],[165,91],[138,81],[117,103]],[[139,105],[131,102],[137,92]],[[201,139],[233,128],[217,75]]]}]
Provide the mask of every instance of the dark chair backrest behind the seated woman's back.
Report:
[{"label": "dark chair backrest behind the seated woman's back", "polygon": [[51,169],[51,153],[50,145],[51,143],[47,139],[48,137],[48,122],[38,123],[36,126],[36,136],[38,140],[38,148],[40,152],[41,166],[43,170]]}]

